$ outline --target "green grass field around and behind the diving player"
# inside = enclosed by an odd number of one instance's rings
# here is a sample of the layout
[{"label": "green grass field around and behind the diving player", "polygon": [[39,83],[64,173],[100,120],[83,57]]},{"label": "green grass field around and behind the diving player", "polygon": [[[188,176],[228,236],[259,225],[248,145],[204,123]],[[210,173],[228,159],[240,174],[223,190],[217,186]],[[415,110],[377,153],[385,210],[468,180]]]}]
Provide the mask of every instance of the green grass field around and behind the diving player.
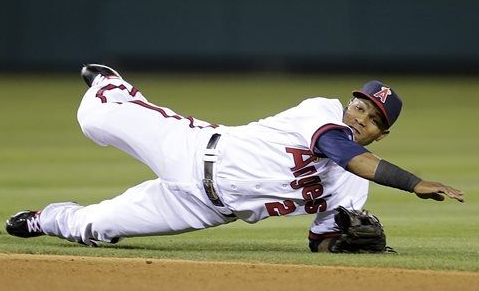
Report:
[{"label": "green grass field around and behind the diving player", "polygon": [[[150,101],[213,123],[243,124],[309,96],[340,97],[370,76],[124,74]],[[479,271],[479,79],[383,78],[405,107],[392,134],[370,147],[425,179],[466,192],[466,203],[420,200],[371,186],[366,208],[399,255],[311,254],[311,216],[236,222],[195,233],[127,239],[87,248],[52,237],[19,239],[0,229],[0,253],[69,254]],[[78,75],[0,75],[0,220],[54,201],[94,203],[153,178],[144,165],[87,140],[76,123]]]}]

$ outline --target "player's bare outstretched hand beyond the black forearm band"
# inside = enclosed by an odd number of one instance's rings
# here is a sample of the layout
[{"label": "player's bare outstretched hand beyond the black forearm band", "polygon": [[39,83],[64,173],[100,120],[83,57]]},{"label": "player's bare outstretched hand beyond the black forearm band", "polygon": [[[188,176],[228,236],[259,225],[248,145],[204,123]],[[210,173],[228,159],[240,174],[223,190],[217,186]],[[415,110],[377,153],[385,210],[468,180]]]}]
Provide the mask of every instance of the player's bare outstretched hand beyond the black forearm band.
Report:
[{"label": "player's bare outstretched hand beyond the black forearm band", "polygon": [[459,202],[464,202],[464,193],[461,190],[443,185],[438,182],[429,182],[422,180],[414,187],[414,193],[421,199],[434,199],[436,201],[443,201],[444,195],[456,199]]}]

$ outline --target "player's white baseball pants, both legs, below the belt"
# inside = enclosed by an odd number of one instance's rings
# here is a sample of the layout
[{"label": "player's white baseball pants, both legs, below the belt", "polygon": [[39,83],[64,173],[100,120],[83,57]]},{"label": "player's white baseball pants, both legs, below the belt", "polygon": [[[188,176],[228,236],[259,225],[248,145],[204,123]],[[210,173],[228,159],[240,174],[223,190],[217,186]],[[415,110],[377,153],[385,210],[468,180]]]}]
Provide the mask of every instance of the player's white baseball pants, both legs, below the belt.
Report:
[{"label": "player's white baseball pants, both legs, below the belt", "polygon": [[94,205],[48,205],[40,215],[46,234],[94,245],[235,220],[218,212],[201,183],[203,150],[214,132],[208,123],[157,107],[124,80],[102,76],[84,95],[78,122],[87,137],[127,152],[158,178]]}]

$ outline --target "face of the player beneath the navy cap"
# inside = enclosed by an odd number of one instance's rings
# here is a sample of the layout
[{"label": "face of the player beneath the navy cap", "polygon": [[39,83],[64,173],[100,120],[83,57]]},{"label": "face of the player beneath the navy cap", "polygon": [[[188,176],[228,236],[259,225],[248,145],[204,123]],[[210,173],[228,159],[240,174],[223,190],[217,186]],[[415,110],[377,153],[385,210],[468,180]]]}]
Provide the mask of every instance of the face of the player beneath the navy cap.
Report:
[{"label": "face of the player beneath the navy cap", "polygon": [[344,110],[343,122],[352,129],[354,139],[360,145],[379,141],[389,133],[384,129],[379,109],[367,99],[351,99]]}]

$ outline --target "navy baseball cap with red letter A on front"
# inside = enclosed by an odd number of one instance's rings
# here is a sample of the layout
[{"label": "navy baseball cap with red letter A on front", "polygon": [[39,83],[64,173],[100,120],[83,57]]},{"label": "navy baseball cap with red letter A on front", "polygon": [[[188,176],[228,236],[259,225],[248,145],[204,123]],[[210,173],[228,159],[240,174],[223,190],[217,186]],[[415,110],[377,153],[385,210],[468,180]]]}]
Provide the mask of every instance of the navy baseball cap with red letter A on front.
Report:
[{"label": "navy baseball cap with red letter A on front", "polygon": [[402,101],[393,89],[379,81],[373,80],[364,84],[361,90],[353,91],[353,96],[371,100],[381,111],[390,128],[401,113]]}]

